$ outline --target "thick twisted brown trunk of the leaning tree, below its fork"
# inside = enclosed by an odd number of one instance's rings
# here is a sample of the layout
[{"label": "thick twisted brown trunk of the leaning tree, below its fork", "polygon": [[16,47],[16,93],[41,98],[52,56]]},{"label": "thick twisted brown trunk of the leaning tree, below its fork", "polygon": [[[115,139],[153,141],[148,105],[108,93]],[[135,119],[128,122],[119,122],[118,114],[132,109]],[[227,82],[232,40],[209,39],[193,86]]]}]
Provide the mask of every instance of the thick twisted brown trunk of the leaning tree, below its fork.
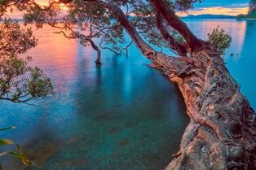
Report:
[{"label": "thick twisted brown trunk of the leaning tree, below its fork", "polygon": [[[174,76],[187,105],[190,124],[170,169],[256,169],[254,110],[210,50],[193,54],[192,68]],[[165,66],[168,67],[168,66]]]}]

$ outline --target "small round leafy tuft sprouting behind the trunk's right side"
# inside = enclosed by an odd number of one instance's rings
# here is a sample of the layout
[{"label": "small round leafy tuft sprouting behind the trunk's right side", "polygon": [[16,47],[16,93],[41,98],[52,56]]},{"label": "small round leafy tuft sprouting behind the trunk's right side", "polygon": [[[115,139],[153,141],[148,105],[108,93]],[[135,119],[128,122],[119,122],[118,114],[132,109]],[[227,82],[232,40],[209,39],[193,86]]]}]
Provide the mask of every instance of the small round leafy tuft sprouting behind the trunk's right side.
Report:
[{"label": "small round leafy tuft sprouting behind the trunk's right side", "polygon": [[218,52],[224,53],[231,46],[232,37],[218,27],[214,28],[212,33],[208,33],[208,41]]}]

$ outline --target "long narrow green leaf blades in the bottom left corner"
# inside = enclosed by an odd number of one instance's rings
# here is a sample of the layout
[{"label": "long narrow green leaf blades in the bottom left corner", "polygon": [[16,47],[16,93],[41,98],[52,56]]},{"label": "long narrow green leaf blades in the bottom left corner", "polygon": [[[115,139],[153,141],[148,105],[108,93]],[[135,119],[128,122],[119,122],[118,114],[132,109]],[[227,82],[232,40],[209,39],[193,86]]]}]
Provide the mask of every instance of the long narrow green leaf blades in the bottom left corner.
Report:
[{"label": "long narrow green leaf blades in the bottom left corner", "polygon": [[[5,129],[0,129],[0,131],[3,130],[8,130],[8,129],[15,129],[15,127],[8,127]],[[0,152],[0,156],[4,156],[4,155],[11,155],[11,156],[15,156],[16,158],[20,159],[20,161],[25,165],[28,166],[29,164],[33,164],[33,162],[29,159],[26,158],[26,156],[24,155],[24,152],[21,148],[20,145],[16,144],[15,142],[9,140],[9,139],[2,139],[0,138],[0,146],[7,146],[7,145],[14,145],[16,148],[16,151],[3,151]],[[2,166],[0,165],[0,170],[2,170]]]}]

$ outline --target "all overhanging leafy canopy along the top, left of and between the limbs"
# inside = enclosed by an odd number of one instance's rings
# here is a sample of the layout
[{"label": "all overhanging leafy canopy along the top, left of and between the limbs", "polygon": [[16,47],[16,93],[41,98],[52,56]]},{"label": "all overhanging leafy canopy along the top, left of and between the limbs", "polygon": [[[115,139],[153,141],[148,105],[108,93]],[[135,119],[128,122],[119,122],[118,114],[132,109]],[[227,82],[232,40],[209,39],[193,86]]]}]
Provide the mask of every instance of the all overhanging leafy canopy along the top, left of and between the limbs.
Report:
[{"label": "all overhanging leafy canopy along the top, left of and between the limbs", "polygon": [[[63,0],[60,2],[64,2],[67,7],[64,12],[60,4],[57,3],[51,8],[47,8],[50,5],[41,7],[45,8],[42,10],[33,3],[24,5],[30,2],[29,0],[23,0],[23,4],[17,0],[8,2],[13,2],[18,9],[27,11],[24,15],[24,20],[27,23],[35,22],[38,27],[42,27],[43,24],[51,24],[51,26],[61,28],[65,37],[77,38],[82,46],[90,46],[90,41],[93,38],[99,38],[105,45],[120,52],[121,46],[126,44],[124,28],[119,22],[120,20],[116,20],[113,17],[113,11],[106,9],[100,4],[100,1]],[[160,48],[170,47],[157,28],[157,11],[153,9],[152,2],[144,0],[109,0],[107,2],[117,5],[124,11],[137,28],[140,36],[150,44]],[[196,2],[203,2],[203,0],[166,0],[166,6],[170,7],[172,11],[188,11]],[[163,20],[163,25],[176,41],[184,42],[184,38],[169,24],[166,24],[165,20]]]}]

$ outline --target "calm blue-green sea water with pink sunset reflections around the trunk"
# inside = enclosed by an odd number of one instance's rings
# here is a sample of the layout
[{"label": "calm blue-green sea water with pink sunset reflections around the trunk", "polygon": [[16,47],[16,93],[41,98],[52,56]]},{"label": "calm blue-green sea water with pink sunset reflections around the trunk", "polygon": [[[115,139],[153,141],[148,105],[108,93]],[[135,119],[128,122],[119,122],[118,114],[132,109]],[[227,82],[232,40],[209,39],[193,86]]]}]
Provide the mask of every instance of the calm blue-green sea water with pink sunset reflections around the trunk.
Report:
[{"label": "calm blue-green sea water with pink sunset reflections around the trunk", "polygon": [[[241,90],[256,107],[256,22],[186,20],[205,38],[218,25],[233,37],[225,60]],[[148,68],[135,46],[129,57],[103,53],[96,67],[95,52],[77,41],[55,35],[51,28],[35,31],[33,64],[53,81],[55,96],[37,107],[0,102],[0,134],[24,146],[36,167],[23,168],[6,157],[7,170],[161,170],[179,150],[188,116],[177,87]],[[230,56],[233,54],[233,56]]]}]

